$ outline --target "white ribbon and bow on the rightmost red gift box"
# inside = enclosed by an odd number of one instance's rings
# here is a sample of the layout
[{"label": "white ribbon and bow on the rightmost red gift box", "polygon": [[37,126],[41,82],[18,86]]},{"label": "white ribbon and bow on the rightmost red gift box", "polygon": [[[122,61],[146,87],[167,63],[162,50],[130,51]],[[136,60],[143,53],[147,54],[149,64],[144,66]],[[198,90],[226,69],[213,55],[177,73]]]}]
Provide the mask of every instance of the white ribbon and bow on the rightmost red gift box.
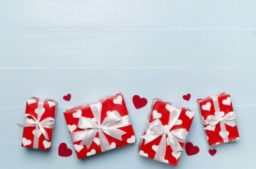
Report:
[{"label": "white ribbon and bow on the rightmost red gift box", "polygon": [[204,125],[207,125],[205,130],[215,131],[216,125],[220,124],[220,137],[224,140],[224,143],[228,142],[228,131],[226,131],[226,125],[230,127],[236,126],[236,113],[235,112],[228,112],[225,114],[224,112],[220,111],[220,105],[218,103],[218,98],[212,98],[214,101],[214,109],[215,115],[207,116],[206,120],[203,121]]}]

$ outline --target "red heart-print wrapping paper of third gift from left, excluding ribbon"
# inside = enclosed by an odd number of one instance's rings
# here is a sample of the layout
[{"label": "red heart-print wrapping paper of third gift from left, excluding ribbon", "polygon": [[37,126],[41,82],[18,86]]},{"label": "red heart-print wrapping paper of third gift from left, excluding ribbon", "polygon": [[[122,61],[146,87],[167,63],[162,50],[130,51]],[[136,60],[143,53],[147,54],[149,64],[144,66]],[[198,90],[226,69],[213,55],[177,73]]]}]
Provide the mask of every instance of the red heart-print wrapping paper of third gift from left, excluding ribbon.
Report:
[{"label": "red heart-print wrapping paper of third gift from left, excluding ribbon", "polygon": [[[166,105],[170,106],[172,105],[170,102],[164,102],[159,99],[155,99],[152,104],[152,110],[148,116],[148,124],[152,123],[156,119],[159,119],[162,123],[162,125],[168,125],[169,121],[172,121],[170,119],[170,111],[166,108]],[[173,106],[173,105],[172,105]],[[174,106],[176,107],[176,106]],[[181,108],[181,107],[179,107]],[[171,129],[170,132],[175,131],[177,129],[185,129],[187,134],[189,132],[189,129],[191,127],[191,123],[193,121],[193,116],[194,113],[187,109],[187,108],[181,108],[181,114],[179,115],[179,121],[177,121],[177,125],[174,125]],[[147,125],[148,126],[148,125]],[[147,131],[146,127],[146,131]],[[146,134],[146,131],[144,131],[143,135]],[[187,134],[186,134],[186,139],[187,139]],[[166,136],[163,136],[166,137]],[[152,158],[154,159],[156,156],[156,150],[158,149],[160,145],[160,140],[162,139],[162,136],[157,137],[150,143],[145,143],[145,139],[141,139],[140,144],[139,144],[139,155],[141,156],[146,156],[147,158]],[[179,142],[179,145],[183,147],[185,144]],[[178,154],[172,154],[172,147],[170,145],[166,144],[166,151],[164,155],[164,161],[160,162],[165,162],[167,164],[171,164],[173,166],[177,166],[179,162],[179,158],[181,156],[181,151],[179,151]],[[157,159],[154,159],[157,160]]]}]

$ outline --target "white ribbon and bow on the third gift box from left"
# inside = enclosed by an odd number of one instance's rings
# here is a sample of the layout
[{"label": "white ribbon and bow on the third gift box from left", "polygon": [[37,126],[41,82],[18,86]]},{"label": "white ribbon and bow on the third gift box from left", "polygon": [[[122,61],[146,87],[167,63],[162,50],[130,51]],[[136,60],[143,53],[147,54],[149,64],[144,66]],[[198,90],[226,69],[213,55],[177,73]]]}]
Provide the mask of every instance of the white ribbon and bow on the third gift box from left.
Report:
[{"label": "white ribbon and bow on the third gift box from left", "polygon": [[159,119],[156,119],[148,125],[146,130],[146,135],[141,136],[142,139],[145,139],[145,144],[150,143],[157,137],[162,137],[156,150],[154,160],[164,162],[164,156],[166,154],[166,145],[170,145],[172,148],[173,154],[177,154],[180,151],[183,151],[180,143],[185,143],[187,139],[187,130],[186,129],[175,129],[172,130],[172,127],[179,120],[181,114],[181,108],[171,106],[170,117],[168,125],[162,125]]}]

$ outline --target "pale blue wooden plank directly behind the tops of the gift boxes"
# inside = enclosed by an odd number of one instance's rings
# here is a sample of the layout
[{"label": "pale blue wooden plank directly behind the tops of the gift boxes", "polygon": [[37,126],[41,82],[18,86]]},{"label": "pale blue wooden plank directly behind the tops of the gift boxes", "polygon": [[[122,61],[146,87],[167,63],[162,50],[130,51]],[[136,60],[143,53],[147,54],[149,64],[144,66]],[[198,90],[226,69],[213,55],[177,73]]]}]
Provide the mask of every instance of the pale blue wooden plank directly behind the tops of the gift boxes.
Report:
[{"label": "pale blue wooden plank directly behind the tops of the gift boxes", "polygon": [[[75,106],[123,92],[152,100],[196,105],[197,98],[227,92],[234,105],[255,105],[256,69],[10,69],[0,70],[0,107],[22,107],[26,98],[53,98]],[[71,102],[62,97],[71,93]],[[191,93],[190,102],[183,94]],[[11,98],[11,100],[6,99]]]}]

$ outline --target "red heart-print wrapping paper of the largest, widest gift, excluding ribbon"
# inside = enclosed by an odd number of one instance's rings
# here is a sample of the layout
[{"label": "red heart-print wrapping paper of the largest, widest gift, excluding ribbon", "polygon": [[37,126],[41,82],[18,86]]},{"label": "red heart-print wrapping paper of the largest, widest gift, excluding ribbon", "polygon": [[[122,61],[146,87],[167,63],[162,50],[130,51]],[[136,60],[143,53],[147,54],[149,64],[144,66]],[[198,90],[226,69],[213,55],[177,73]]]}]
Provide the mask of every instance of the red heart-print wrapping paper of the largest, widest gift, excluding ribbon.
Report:
[{"label": "red heart-print wrapping paper of the largest, widest gift, excluding ribbon", "polygon": [[[122,117],[129,115],[122,94],[117,94],[115,96],[110,96],[108,98],[101,99],[100,103],[102,104],[100,123],[102,123],[104,119],[106,119],[106,117],[108,116],[107,112],[112,112],[116,110]],[[82,106],[71,108],[70,110],[66,110],[64,112],[64,116],[67,122],[67,126],[69,128],[69,133],[71,134],[77,131],[84,130],[78,127],[79,119],[81,117],[86,117],[88,119],[92,119],[93,121],[95,121],[95,116],[92,112],[90,104],[85,104]],[[122,135],[122,140],[115,139],[114,137],[111,137],[110,135],[103,132],[103,135],[106,137],[112,149],[121,147],[123,145],[127,145],[129,143],[135,143],[135,134],[133,132],[132,125],[127,125],[125,127],[120,127],[117,129],[126,132],[124,135]],[[94,154],[99,154],[102,152],[98,132],[96,133],[96,136],[89,148],[86,145],[81,145],[81,142],[82,141],[73,142],[78,159],[86,158],[88,156],[92,156]]]}]

